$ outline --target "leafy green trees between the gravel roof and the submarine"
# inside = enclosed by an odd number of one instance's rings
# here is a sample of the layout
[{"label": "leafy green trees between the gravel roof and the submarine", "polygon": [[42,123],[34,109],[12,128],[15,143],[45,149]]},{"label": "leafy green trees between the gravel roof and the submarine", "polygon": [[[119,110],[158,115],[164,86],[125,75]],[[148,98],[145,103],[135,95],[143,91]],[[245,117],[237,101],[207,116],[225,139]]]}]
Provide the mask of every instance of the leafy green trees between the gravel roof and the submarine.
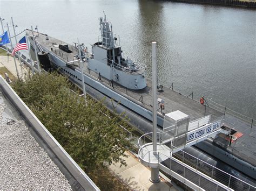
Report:
[{"label": "leafy green trees between the gravel roof and the submarine", "polygon": [[85,171],[104,162],[125,165],[120,156],[131,145],[120,125],[129,126],[120,115],[107,110],[103,101],[88,98],[86,107],[84,98],[70,90],[70,82],[56,73],[28,76],[12,87]]}]

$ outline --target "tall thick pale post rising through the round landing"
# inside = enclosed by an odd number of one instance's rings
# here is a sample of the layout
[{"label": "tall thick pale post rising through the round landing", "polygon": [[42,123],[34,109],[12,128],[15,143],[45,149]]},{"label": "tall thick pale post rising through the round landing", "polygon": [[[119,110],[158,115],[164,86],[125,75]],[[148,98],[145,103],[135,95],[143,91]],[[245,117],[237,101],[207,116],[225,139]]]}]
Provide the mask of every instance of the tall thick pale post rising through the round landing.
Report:
[{"label": "tall thick pale post rising through the round landing", "polygon": [[[152,43],[152,94],[153,94],[153,152],[157,154],[157,43]],[[151,168],[150,181],[157,183],[160,181],[159,168]]]}]

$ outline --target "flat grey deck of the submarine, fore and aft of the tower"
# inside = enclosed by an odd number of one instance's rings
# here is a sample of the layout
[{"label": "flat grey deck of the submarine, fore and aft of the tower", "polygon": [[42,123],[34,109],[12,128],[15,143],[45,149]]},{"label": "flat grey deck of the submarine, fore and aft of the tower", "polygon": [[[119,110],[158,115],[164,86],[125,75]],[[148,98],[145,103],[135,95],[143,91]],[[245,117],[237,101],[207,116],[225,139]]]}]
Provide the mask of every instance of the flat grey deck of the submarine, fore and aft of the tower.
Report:
[{"label": "flat grey deck of the submarine, fore and aft of the tower", "polygon": [[[31,34],[30,30],[27,30]],[[76,60],[74,56],[77,54],[77,49],[75,46],[68,45],[72,53],[67,53],[58,48],[59,44],[66,44],[63,41],[52,38],[48,36],[49,40],[46,40],[46,35],[42,33],[35,33],[38,35],[37,41],[39,44],[44,46],[49,52],[55,53],[60,59],[64,62]],[[78,62],[72,63],[72,65],[77,65]],[[99,81],[99,75],[92,70],[88,70],[87,67],[84,67],[84,73],[90,75],[95,80]],[[151,80],[147,80],[147,87],[142,90],[130,90],[125,87],[120,86],[117,83],[111,84],[111,81],[101,77],[101,83],[105,86],[113,89],[117,93],[129,98],[133,102],[139,104],[140,106],[152,110],[152,84]],[[86,82],[85,82],[86,83]],[[234,130],[233,132],[240,133],[240,137],[233,140],[231,145],[230,138],[227,136],[227,133],[220,133],[218,136],[212,138],[213,142],[218,143],[224,150],[232,152],[232,154],[237,155],[244,161],[247,161],[253,166],[256,166],[256,126],[254,124],[247,123],[238,117],[232,115],[224,115],[224,112],[220,112],[216,109],[206,107],[205,114],[205,105],[200,104],[196,100],[192,100],[186,96],[177,93],[169,88],[163,87],[163,91],[158,92],[158,98],[164,100],[165,109],[161,113],[162,115],[167,114],[172,111],[180,110],[190,116],[190,121],[204,117],[205,115],[211,115],[211,121],[216,121],[217,119],[223,119],[222,124],[227,127],[227,129]],[[158,109],[160,112],[160,108]],[[230,150],[228,150],[230,148]]]}]

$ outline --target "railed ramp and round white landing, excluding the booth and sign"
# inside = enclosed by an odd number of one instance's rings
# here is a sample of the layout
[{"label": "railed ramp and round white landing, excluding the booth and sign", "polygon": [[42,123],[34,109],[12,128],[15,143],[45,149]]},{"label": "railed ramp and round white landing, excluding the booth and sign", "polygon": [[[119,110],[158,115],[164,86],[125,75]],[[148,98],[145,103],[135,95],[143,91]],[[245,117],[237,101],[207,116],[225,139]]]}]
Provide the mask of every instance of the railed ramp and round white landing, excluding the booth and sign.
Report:
[{"label": "railed ramp and round white landing, excluding the booth and sign", "polygon": [[[149,138],[151,138],[151,136],[152,133],[146,133],[138,140],[139,159],[143,160],[148,166],[158,164],[160,169],[173,175],[174,178],[187,179],[192,182],[192,185],[197,185],[205,190],[256,190],[255,186],[188,154],[177,147],[171,146],[172,150],[179,150],[179,152],[175,154],[175,158],[172,154],[166,154],[171,153],[171,148],[167,146],[165,146],[165,153],[147,150],[146,146],[152,144],[149,143]],[[157,137],[157,144],[160,145],[161,133],[157,133]]]}]

